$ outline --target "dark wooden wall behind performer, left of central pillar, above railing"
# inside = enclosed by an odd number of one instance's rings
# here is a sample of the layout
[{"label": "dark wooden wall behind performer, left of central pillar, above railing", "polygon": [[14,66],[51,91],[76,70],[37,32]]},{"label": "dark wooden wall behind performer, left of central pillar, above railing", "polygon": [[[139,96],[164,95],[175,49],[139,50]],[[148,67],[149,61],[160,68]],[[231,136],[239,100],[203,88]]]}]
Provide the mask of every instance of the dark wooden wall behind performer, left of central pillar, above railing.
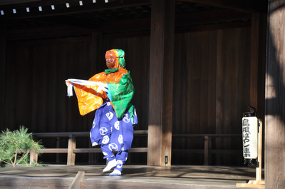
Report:
[{"label": "dark wooden wall behind performer, left of central pillar, above railing", "polygon": [[[118,39],[112,44],[105,41],[100,63],[92,63],[90,38],[56,39],[43,41],[7,42],[4,126],[19,126],[33,132],[89,131],[91,116],[79,116],[76,96],[66,96],[67,78],[88,79],[105,69],[105,51],[123,48],[127,68],[136,88],[135,105],[147,103],[149,38]],[[141,44],[142,48],[136,47]],[[123,48],[124,49],[124,48]],[[132,56],[131,56],[132,55]],[[137,107],[147,115],[146,108]],[[145,113],[143,112],[145,111]],[[93,113],[90,113],[93,114]],[[146,117],[147,119],[147,117]],[[140,129],[147,128],[142,119]],[[2,129],[3,129],[2,128]]]}]

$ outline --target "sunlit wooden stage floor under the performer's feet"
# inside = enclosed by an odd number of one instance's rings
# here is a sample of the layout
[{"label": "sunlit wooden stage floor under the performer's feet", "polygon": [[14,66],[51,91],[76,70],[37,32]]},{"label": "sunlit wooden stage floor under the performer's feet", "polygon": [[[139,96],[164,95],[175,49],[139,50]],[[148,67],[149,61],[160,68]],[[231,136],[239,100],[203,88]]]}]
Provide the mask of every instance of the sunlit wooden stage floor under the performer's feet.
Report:
[{"label": "sunlit wooden stage floor under the performer's feet", "polygon": [[78,171],[81,188],[237,188],[255,180],[255,168],[227,166],[124,165],[121,176],[102,173],[104,165],[45,165],[36,168],[0,168],[0,188],[69,188]]}]

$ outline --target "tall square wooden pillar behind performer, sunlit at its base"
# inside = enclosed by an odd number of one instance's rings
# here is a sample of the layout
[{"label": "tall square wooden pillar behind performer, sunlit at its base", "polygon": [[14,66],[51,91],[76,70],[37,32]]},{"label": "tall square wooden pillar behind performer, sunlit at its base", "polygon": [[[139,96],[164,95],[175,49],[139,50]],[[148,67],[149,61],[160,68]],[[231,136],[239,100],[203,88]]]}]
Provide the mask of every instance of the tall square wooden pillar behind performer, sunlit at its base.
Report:
[{"label": "tall square wooden pillar behind performer, sunlit at its base", "polygon": [[151,8],[147,165],[171,165],[175,0]]}]

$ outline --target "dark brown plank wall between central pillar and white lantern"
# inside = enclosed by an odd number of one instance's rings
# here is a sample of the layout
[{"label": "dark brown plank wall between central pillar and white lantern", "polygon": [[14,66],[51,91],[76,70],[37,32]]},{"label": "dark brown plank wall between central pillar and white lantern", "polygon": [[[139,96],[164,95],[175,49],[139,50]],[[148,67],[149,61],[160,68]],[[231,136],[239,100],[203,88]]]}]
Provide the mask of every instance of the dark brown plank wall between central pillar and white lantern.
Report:
[{"label": "dark brown plank wall between central pillar and white lantern", "polygon": [[[237,134],[249,105],[249,28],[177,34],[175,41],[172,134]],[[241,149],[239,138],[213,141],[217,149]],[[204,138],[175,138],[172,148],[202,149]],[[203,163],[197,154],[174,154],[180,163]],[[217,155],[219,165],[242,163],[237,155]],[[190,159],[190,160],[189,160]]]}]

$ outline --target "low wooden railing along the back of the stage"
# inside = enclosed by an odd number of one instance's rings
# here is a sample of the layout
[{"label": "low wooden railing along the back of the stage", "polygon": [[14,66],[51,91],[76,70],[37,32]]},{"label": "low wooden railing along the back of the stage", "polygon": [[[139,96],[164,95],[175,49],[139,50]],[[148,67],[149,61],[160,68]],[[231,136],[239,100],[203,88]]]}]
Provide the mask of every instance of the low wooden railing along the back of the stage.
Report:
[{"label": "low wooden railing along the back of the stage", "polygon": [[[147,130],[134,131],[134,135],[147,135]],[[41,153],[67,153],[67,165],[75,165],[76,153],[102,153],[100,148],[76,148],[77,137],[89,137],[89,132],[33,133],[36,138],[57,138],[56,148],[46,148]],[[68,138],[68,148],[59,148],[60,138]],[[210,165],[212,154],[242,154],[242,150],[212,149],[212,138],[242,138],[241,134],[173,134],[173,138],[204,138],[204,149],[172,149],[173,153],[204,153],[204,165]],[[130,148],[130,153],[147,153],[147,148]],[[31,152],[31,163],[37,162],[38,155]]]}]

